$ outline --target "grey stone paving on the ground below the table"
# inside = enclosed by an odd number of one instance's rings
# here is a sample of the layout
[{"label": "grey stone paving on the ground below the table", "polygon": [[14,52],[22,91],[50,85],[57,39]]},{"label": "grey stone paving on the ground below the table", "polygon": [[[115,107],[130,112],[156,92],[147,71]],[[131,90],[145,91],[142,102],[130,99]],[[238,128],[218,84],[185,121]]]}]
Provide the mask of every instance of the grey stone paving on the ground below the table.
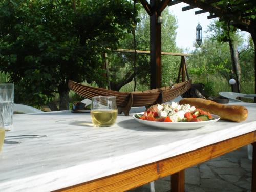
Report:
[{"label": "grey stone paving on the ground below the table", "polygon": [[[251,191],[252,160],[247,147],[222,155],[185,170],[186,192]],[[149,184],[129,192],[149,192]],[[156,192],[170,191],[170,176],[155,181]]]}]

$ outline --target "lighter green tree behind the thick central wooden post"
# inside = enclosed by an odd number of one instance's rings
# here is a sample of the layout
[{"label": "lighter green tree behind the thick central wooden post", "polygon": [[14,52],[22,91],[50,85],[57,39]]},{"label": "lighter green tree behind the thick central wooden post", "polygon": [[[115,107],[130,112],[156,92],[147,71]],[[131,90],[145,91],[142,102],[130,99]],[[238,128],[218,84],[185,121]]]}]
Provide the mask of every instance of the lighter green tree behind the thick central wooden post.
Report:
[{"label": "lighter green tree behind the thick central wooden post", "polygon": [[[162,12],[164,22],[162,24],[162,51],[179,52],[176,47],[176,18],[164,10]],[[144,9],[139,11],[139,20],[136,26],[136,47],[137,50],[150,50],[150,18]],[[120,48],[134,49],[133,36],[127,34],[126,38],[120,40]],[[136,59],[136,77],[139,84],[150,85],[150,56],[147,54],[137,54]],[[119,90],[120,82],[132,81],[134,76],[133,54],[131,53],[114,53],[109,56],[110,79],[112,89]],[[162,83],[169,84],[170,80],[175,81],[179,70],[180,57],[162,56]],[[129,80],[127,80],[129,79]],[[115,87],[116,86],[116,87]]]}]

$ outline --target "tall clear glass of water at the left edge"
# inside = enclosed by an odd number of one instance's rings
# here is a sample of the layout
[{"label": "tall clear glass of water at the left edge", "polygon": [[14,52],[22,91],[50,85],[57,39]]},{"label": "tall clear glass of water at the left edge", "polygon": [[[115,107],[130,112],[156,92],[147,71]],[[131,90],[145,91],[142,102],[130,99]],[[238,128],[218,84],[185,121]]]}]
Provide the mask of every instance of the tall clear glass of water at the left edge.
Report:
[{"label": "tall clear glass of water at the left edge", "polygon": [[0,84],[0,114],[6,129],[9,129],[13,123],[13,99],[14,84]]}]

